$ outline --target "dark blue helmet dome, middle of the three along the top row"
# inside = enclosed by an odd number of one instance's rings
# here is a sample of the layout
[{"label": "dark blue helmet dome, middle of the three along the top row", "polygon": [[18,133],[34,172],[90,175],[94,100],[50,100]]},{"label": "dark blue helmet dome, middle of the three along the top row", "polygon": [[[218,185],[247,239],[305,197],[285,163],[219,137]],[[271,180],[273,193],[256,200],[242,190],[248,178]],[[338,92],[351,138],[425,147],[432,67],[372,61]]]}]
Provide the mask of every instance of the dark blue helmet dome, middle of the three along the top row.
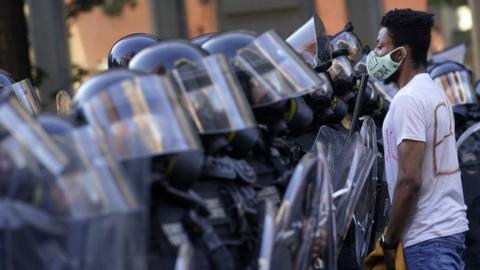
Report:
[{"label": "dark blue helmet dome, middle of the three along the top row", "polygon": [[205,51],[184,40],[163,41],[138,53],[128,67],[146,73],[166,74],[185,61],[196,62],[206,55]]}]

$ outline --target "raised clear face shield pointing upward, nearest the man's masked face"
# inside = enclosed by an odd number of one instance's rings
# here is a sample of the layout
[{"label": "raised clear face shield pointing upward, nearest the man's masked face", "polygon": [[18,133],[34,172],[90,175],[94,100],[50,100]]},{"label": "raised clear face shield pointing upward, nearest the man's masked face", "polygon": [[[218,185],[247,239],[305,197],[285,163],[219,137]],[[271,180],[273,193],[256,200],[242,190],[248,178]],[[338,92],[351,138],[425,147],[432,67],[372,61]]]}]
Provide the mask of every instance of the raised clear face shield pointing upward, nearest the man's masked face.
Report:
[{"label": "raised clear face shield pointing upward, nearest the man's masked face", "polygon": [[332,59],[329,38],[318,15],[298,28],[286,41],[312,68]]}]

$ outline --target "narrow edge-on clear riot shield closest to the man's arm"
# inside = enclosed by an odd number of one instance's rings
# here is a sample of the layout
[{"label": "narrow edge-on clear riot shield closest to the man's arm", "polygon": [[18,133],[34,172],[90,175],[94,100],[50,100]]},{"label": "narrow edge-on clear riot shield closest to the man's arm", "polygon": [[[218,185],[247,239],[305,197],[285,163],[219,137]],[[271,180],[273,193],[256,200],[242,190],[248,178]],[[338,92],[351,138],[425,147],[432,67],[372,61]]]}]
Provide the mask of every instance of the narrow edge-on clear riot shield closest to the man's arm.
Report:
[{"label": "narrow edge-on clear riot shield closest to the man's arm", "polygon": [[376,201],[376,190],[378,181],[378,164],[377,164],[377,127],[370,117],[364,117],[360,136],[363,145],[372,150],[374,161],[372,169],[366,179],[363,190],[360,193],[358,203],[353,216],[353,227],[355,234],[355,254],[357,264],[363,265],[363,260],[368,254],[369,244],[373,233],[374,211]]}]

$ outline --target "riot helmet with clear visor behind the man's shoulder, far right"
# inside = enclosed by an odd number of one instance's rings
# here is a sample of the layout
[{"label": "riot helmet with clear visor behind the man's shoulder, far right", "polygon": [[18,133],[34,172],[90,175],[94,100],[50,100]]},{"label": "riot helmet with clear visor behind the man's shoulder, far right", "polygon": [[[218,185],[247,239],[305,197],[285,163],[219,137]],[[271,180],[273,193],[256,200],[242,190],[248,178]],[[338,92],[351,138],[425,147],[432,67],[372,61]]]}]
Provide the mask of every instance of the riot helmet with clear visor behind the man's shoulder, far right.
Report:
[{"label": "riot helmet with clear visor behind the man's shoulder, far right", "polygon": [[430,76],[445,91],[452,105],[478,104],[472,72],[464,65],[445,61],[429,68]]}]

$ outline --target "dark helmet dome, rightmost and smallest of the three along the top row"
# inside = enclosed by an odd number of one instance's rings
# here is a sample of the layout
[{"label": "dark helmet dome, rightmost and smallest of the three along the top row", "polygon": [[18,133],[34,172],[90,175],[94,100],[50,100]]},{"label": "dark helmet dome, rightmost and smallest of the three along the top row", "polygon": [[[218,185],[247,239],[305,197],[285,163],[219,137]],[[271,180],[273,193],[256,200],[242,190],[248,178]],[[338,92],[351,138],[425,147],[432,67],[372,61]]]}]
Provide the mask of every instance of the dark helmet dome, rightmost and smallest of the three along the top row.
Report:
[{"label": "dark helmet dome, rightmost and smallest of the three along the top row", "polygon": [[255,34],[248,31],[232,31],[216,35],[201,47],[209,54],[223,54],[228,59],[233,59],[237,55],[237,51],[245,48],[255,39]]}]

